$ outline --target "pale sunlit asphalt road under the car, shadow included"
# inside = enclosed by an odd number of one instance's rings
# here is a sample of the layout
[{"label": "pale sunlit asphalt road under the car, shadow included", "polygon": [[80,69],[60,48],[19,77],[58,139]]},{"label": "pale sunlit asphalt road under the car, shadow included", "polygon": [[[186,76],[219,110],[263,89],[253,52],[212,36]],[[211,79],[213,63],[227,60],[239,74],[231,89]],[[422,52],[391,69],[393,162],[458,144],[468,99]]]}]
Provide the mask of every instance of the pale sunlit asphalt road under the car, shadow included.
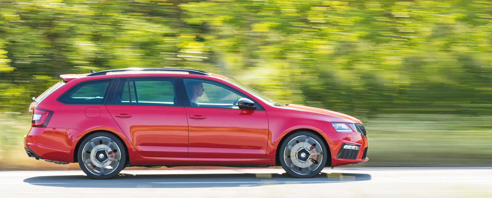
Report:
[{"label": "pale sunlit asphalt road under the car, shadow included", "polygon": [[123,170],[93,180],[81,170],[0,171],[0,198],[492,198],[492,168],[335,168],[292,178],[278,168]]}]

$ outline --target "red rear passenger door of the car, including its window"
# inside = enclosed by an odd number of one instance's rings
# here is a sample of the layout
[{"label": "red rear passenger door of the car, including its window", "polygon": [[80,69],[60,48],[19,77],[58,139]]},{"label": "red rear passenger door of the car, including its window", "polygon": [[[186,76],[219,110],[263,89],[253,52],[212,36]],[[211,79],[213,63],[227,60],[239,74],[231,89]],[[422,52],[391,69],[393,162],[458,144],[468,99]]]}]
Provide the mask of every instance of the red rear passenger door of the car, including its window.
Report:
[{"label": "red rear passenger door of the car, including its window", "polygon": [[[177,78],[118,79],[106,108],[146,157],[187,157],[188,125]],[[178,94],[176,94],[178,93]]]}]

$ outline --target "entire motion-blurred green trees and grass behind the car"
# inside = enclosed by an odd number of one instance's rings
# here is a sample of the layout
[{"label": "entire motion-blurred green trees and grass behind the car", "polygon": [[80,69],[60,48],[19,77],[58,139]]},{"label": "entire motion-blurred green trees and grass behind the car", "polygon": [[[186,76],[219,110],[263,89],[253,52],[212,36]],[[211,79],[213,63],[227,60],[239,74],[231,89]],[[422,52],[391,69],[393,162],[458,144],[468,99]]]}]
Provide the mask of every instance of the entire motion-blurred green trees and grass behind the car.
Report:
[{"label": "entire motion-blurred green trees and grass behind the car", "polygon": [[185,67],[368,129],[354,166],[492,165],[490,0],[0,0],[0,170],[31,97],[89,69]]}]

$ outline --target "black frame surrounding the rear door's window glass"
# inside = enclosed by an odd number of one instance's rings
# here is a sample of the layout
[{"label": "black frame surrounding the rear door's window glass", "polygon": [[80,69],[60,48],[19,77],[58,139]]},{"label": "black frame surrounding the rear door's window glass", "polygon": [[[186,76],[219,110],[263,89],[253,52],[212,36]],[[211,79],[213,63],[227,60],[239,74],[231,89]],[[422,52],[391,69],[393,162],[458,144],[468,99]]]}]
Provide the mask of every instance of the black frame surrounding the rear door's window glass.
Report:
[{"label": "black frame surrounding the rear door's window glass", "polygon": [[[118,92],[120,82],[122,80],[126,81],[128,85],[128,89],[130,89],[130,80],[131,79],[167,79],[169,82],[173,83],[174,87],[174,97],[176,100],[176,103],[173,105],[168,105],[168,104],[155,104],[155,105],[139,105],[131,102],[131,90],[128,90],[128,94],[130,97],[130,103],[129,104],[115,104],[115,99],[116,99],[116,93]],[[181,89],[179,86],[178,78],[177,77],[168,77],[168,76],[137,76],[137,77],[121,77],[121,78],[116,78],[115,80],[116,83],[114,83],[112,90],[111,90],[111,100],[108,100],[106,105],[124,105],[124,106],[153,106],[153,107],[183,107],[183,99],[181,97]],[[136,89],[135,89],[136,91]]]}]

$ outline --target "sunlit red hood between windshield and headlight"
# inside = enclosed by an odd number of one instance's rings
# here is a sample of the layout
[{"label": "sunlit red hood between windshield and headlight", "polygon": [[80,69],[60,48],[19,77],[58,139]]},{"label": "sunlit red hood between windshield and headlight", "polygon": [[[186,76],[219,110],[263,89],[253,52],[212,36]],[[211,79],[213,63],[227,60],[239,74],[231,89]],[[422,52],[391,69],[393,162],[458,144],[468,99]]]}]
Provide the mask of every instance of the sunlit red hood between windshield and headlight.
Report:
[{"label": "sunlit red hood between windshield and headlight", "polygon": [[[303,106],[303,105],[289,104],[287,106],[278,106],[277,108],[281,112],[286,113],[286,114],[295,114],[293,111],[307,112],[307,113],[317,113],[317,114],[329,115],[330,117],[338,117],[338,118],[345,119],[345,121],[343,121],[343,122],[362,123],[361,120],[359,120],[359,119],[357,119],[355,117],[352,117],[350,115],[339,113],[339,112],[334,112],[334,111],[330,111],[330,110],[315,108],[315,107],[308,107],[308,106]],[[337,119],[337,120],[329,120],[329,121],[339,122],[339,121],[342,121],[342,120],[341,119]]]}]

